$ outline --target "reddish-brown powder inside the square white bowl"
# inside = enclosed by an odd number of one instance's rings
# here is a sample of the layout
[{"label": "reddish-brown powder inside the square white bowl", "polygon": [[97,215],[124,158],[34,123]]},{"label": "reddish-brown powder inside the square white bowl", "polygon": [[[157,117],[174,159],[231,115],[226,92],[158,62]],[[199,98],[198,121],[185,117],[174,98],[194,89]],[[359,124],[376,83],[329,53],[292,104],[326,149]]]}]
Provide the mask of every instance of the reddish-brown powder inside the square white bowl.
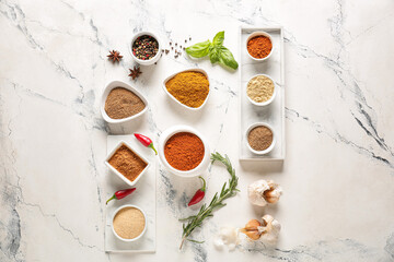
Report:
[{"label": "reddish-brown powder inside the square white bowl", "polygon": [[143,159],[126,145],[121,145],[109,158],[108,163],[131,182],[148,166]]}]

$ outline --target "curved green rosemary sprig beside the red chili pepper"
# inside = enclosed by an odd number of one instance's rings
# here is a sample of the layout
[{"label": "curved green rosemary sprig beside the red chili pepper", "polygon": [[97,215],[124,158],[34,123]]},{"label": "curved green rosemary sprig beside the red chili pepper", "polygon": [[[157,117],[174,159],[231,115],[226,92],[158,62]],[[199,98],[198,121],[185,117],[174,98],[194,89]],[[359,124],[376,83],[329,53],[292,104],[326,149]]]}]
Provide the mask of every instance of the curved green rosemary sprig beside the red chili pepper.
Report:
[{"label": "curved green rosemary sprig beside the red chili pepper", "polygon": [[207,206],[206,204],[204,204],[196,215],[179,219],[179,221],[187,222],[186,224],[183,224],[182,242],[181,242],[179,249],[182,249],[185,240],[193,241],[193,242],[199,242],[199,241],[188,238],[190,236],[190,234],[193,233],[193,230],[196,229],[196,227],[200,227],[202,225],[202,222],[205,218],[213,216],[215,210],[225,206],[225,203],[223,203],[224,200],[227,200],[231,196],[234,196],[236,194],[236,192],[240,191],[236,188],[237,177],[235,176],[235,169],[232,167],[229,156],[224,155],[224,157],[223,157],[219,153],[212,153],[211,160],[212,160],[212,164],[217,160],[221,162],[227,167],[227,170],[229,171],[229,174],[231,176],[231,178],[229,179],[229,184],[228,184],[228,182],[224,182],[224,184],[220,191],[220,194],[218,194],[218,192],[217,192],[213,195],[209,205]]}]

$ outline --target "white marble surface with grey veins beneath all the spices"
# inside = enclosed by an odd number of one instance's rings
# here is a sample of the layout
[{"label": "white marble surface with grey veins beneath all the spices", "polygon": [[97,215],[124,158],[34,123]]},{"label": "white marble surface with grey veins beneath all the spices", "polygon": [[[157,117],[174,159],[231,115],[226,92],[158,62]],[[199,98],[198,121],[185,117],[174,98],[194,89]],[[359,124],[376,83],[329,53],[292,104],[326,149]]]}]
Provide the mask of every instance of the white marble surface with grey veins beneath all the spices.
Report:
[{"label": "white marble surface with grey veins beneath all the spices", "polygon": [[[137,81],[127,76],[134,32],[154,29],[167,43],[224,29],[235,53],[240,24],[286,29],[282,165],[237,162],[236,73],[199,62],[213,88],[205,110],[193,115],[165,97],[161,81],[196,62],[163,57]],[[0,0],[0,261],[393,261],[393,26],[392,0]],[[106,59],[113,48],[125,55],[120,66]],[[151,102],[144,120],[129,128],[159,135],[192,124],[234,163],[242,191],[196,231],[204,245],[177,249],[177,218],[186,215],[197,179],[161,171],[157,253],[104,252],[106,135],[127,131],[107,127],[100,115],[101,92],[112,80],[128,81]],[[246,187],[258,178],[283,187],[276,206],[247,203]],[[227,179],[222,167],[212,167],[208,195]],[[263,213],[282,225],[276,249],[215,250],[220,225],[242,226]]]}]

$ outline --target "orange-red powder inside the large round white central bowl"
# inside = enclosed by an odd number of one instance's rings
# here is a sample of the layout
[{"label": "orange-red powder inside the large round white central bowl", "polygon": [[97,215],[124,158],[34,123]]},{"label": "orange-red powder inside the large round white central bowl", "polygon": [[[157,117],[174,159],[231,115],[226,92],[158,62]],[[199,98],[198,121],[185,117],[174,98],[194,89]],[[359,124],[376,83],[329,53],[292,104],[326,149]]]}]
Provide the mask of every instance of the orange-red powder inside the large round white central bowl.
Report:
[{"label": "orange-red powder inside the large round white central bowl", "polygon": [[201,163],[205,147],[197,135],[181,132],[171,136],[165,143],[164,155],[172,167],[187,171],[196,168]]}]

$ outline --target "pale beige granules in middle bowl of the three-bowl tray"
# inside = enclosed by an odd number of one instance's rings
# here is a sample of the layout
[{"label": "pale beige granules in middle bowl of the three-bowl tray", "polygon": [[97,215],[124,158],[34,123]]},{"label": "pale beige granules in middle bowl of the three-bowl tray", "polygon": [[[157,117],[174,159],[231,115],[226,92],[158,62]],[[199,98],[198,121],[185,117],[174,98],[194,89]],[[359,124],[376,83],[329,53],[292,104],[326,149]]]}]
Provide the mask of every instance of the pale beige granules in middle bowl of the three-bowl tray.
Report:
[{"label": "pale beige granules in middle bowl of the three-bowl tray", "polygon": [[247,83],[246,94],[256,103],[269,100],[274,94],[274,82],[264,75],[257,75]]}]

